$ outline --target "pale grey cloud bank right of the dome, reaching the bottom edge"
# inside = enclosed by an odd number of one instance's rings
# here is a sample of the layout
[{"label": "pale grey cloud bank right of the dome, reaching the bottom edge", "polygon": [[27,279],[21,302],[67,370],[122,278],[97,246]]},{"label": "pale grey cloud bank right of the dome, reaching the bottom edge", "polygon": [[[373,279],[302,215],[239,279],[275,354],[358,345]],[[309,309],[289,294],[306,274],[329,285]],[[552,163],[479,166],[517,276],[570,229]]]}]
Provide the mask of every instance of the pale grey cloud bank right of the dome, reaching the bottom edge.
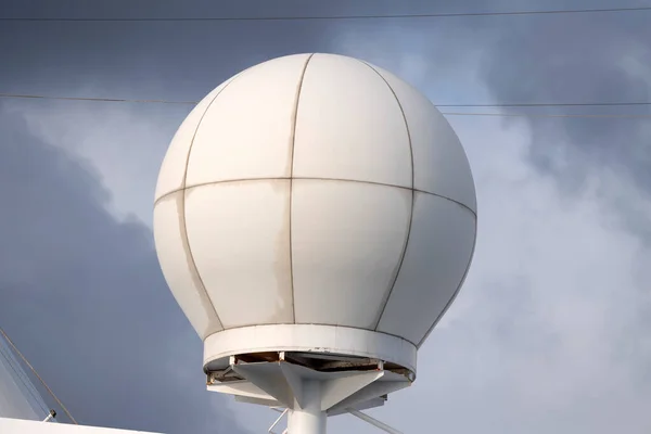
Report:
[{"label": "pale grey cloud bank right of the dome, reaching the bottom edge", "polygon": [[592,168],[566,201],[562,182],[532,170],[529,128],[455,126],[475,168],[477,251],[420,354],[411,411],[458,432],[644,432],[651,253],[598,193],[635,186]]}]

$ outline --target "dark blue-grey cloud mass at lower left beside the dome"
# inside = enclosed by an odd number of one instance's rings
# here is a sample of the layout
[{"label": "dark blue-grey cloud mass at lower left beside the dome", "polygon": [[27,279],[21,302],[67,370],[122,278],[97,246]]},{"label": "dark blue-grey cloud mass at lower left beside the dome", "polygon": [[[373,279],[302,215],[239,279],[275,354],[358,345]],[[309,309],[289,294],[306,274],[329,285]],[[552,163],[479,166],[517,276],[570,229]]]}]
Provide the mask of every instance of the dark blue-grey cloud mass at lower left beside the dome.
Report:
[{"label": "dark blue-grey cloud mass at lower left beside the dome", "polygon": [[0,131],[2,327],[73,414],[243,432],[205,391],[201,342],[166,288],[150,230],[108,215],[97,177],[18,116],[0,111]]}]

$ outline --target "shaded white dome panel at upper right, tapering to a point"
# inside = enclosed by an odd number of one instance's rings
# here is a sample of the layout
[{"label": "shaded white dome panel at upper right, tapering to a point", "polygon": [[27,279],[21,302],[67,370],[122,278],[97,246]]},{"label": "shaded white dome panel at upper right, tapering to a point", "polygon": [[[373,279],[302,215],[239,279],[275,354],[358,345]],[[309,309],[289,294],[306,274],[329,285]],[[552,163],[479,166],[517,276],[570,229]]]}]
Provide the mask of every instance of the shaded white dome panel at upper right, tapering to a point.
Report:
[{"label": "shaded white dome panel at upper right, tapering to a point", "polygon": [[391,85],[405,112],[413,150],[414,188],[452,199],[476,213],[470,164],[452,127],[421,92],[373,67]]}]

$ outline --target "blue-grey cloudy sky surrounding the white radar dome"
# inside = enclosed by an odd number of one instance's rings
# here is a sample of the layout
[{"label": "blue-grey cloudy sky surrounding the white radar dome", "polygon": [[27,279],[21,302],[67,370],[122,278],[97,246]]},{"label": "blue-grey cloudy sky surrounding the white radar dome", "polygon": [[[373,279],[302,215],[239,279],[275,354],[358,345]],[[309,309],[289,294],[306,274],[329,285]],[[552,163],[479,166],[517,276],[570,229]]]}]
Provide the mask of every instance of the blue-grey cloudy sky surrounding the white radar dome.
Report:
[{"label": "blue-grey cloudy sky surrounding the white radar dome", "polygon": [[[500,0],[490,7],[480,0],[234,3],[0,0],[0,15],[651,5],[641,0]],[[196,100],[260,61],[319,51],[393,71],[439,104],[646,102],[651,100],[650,20],[651,12],[1,22],[0,92]],[[202,344],[167,290],[153,251],[157,169],[189,110],[0,100],[0,326],[81,423],[263,433],[275,419],[271,411],[205,392]],[[651,110],[518,113],[651,115]],[[448,119],[475,176],[475,258],[457,302],[419,354],[416,384],[371,413],[406,433],[648,433],[651,119]],[[345,416],[330,426],[375,432]]]}]

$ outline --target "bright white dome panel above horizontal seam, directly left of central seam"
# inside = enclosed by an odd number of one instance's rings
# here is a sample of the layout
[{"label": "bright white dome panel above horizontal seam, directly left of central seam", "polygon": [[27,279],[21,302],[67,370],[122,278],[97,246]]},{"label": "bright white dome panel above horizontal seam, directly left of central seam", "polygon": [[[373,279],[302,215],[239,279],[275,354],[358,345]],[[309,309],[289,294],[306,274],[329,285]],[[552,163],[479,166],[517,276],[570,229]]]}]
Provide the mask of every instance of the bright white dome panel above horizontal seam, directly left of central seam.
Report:
[{"label": "bright white dome panel above horizontal seam, directly left of central seam", "polygon": [[296,98],[308,56],[254,66],[219,93],[194,138],[187,187],[290,176]]}]

